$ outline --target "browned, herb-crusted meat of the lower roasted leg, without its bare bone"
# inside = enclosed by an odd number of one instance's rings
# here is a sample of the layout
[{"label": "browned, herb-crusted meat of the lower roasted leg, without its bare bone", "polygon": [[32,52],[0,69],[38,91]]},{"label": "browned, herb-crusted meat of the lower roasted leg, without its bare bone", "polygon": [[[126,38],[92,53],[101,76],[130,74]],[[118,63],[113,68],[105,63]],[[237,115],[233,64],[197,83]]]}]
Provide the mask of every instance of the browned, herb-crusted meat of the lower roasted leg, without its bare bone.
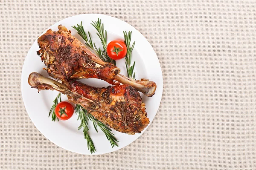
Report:
[{"label": "browned, herb-crusted meat of the lower roasted leg, without its bare bone", "polygon": [[139,92],[128,84],[96,88],[70,81],[69,85],[73,92],[92,100],[94,104],[82,98],[69,97],[69,101],[81,104],[96,119],[114,130],[140,133],[149,124]]}]

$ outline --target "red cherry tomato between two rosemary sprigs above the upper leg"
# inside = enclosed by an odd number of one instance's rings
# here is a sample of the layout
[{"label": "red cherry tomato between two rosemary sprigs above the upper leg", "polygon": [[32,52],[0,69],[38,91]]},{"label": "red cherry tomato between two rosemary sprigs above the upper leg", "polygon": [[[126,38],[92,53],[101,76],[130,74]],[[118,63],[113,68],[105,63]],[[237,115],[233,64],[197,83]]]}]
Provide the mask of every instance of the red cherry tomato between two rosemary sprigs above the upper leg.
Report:
[{"label": "red cherry tomato between two rosemary sprigs above the upper leg", "polygon": [[121,40],[113,40],[108,43],[107,53],[110,58],[113,60],[120,60],[124,58],[127,53],[126,45]]}]

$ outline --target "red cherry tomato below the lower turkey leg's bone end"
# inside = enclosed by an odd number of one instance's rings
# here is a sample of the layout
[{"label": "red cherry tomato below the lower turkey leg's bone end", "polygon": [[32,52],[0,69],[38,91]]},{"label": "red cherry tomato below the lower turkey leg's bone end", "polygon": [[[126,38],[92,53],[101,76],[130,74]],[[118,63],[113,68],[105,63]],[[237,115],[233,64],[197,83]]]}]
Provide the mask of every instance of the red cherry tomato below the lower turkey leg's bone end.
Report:
[{"label": "red cherry tomato below the lower turkey leg's bone end", "polygon": [[72,106],[72,104],[70,104],[67,101],[61,101],[55,107],[55,115],[57,116],[57,118],[63,121],[71,118],[73,113],[74,113],[74,107]]}]

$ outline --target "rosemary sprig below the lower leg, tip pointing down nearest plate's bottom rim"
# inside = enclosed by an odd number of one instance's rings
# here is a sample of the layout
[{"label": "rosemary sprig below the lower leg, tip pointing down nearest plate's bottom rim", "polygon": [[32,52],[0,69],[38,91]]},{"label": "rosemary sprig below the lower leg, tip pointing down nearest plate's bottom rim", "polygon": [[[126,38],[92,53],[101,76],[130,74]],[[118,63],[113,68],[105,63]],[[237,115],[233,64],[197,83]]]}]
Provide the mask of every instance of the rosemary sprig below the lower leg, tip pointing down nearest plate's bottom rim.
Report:
[{"label": "rosemary sprig below the lower leg, tip pointing down nearest plate's bottom rim", "polygon": [[89,131],[89,127],[88,127],[89,118],[88,118],[87,112],[79,104],[76,105],[75,110],[76,110],[76,114],[78,114],[77,120],[79,120],[79,119],[81,120],[81,124],[78,127],[78,130],[80,130],[82,127],[84,128],[83,129],[84,138],[87,140],[88,150],[90,150],[90,153],[94,153],[96,151],[96,149],[95,149],[93,141],[90,138],[90,135],[88,133],[88,131]]}]

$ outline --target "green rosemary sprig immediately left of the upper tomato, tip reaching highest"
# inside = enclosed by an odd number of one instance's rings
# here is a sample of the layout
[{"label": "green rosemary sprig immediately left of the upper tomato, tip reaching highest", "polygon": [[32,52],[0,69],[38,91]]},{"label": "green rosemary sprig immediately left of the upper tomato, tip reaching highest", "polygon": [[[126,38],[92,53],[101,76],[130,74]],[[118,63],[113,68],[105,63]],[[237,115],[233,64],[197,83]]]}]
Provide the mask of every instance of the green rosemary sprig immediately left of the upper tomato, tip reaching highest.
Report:
[{"label": "green rosemary sprig immediately left of the upper tomato, tip reaching highest", "polygon": [[106,61],[109,63],[113,63],[116,65],[116,61],[111,59],[107,54],[107,30],[104,30],[104,24],[101,23],[101,20],[98,18],[97,21],[92,21],[92,26],[97,30],[97,35],[99,36],[99,39],[102,42],[103,51],[102,55],[105,57]]}]

